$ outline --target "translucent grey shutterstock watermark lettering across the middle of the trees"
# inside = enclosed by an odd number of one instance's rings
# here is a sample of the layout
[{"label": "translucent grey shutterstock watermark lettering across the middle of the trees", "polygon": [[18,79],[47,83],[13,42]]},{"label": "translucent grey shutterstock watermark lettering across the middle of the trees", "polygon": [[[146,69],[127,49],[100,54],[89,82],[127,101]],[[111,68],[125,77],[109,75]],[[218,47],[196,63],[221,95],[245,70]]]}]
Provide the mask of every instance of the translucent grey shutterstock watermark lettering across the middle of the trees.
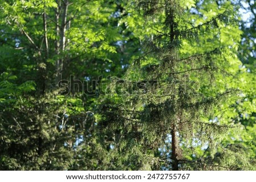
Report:
[{"label": "translucent grey shutterstock watermark lettering across the middle of the trees", "polygon": [[[109,75],[90,80],[75,79],[70,75],[69,80],[58,83],[60,95],[157,95],[187,94],[191,92],[194,82],[189,82],[188,75],[183,79],[150,79],[141,81],[127,81]],[[193,89],[192,89],[193,90]]]}]

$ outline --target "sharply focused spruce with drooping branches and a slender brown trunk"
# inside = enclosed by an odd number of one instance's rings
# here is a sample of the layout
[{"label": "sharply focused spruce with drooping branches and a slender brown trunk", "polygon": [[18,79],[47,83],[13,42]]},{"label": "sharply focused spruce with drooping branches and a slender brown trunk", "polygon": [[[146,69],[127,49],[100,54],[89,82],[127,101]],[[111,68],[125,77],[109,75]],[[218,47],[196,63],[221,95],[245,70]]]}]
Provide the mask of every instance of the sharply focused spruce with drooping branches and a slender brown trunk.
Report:
[{"label": "sharply focused spruce with drooping branches and a slender brown trunk", "polygon": [[[239,170],[250,163],[240,145],[220,145],[240,124],[221,124],[214,111],[240,91],[214,90],[216,77],[233,77],[225,67],[228,48],[213,47],[181,56],[183,41],[199,36],[220,37],[221,27],[236,24],[233,9],[194,26],[186,15],[187,1],[138,1],[134,4],[150,29],[142,56],[126,76],[115,81],[117,105],[103,105],[100,127],[112,143],[113,163],[129,170]],[[135,13],[135,12],[134,12]],[[200,82],[197,82],[200,81]],[[211,90],[212,92],[208,92]],[[111,152],[111,151],[110,151]]]}]

